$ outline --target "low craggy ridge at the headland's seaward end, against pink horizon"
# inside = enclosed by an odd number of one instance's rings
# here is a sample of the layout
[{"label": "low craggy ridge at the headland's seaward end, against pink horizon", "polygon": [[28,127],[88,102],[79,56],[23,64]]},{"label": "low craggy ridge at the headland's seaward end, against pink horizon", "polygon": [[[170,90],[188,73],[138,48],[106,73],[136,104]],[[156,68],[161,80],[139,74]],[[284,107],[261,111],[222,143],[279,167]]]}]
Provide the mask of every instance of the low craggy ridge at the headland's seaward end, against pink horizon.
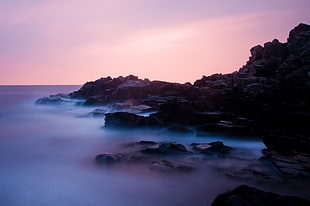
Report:
[{"label": "low craggy ridge at the headland's seaward end, against pink horizon", "polygon": [[194,90],[190,84],[150,81],[129,75],[87,82],[80,90],[70,93],[70,97],[85,99],[84,105],[126,103],[158,108],[169,100],[187,97]]}]

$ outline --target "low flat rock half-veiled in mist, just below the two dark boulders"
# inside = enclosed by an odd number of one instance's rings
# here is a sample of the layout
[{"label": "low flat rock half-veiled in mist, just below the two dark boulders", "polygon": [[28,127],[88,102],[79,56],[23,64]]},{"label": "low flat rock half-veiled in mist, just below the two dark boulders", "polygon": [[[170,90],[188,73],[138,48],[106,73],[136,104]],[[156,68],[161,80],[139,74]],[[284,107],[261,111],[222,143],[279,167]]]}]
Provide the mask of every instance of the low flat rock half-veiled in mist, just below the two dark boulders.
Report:
[{"label": "low flat rock half-veiled in mist, just below the two dark boulders", "polygon": [[166,171],[191,172],[194,170],[194,168],[191,166],[175,164],[168,160],[155,161],[150,166],[150,169],[165,172]]}]

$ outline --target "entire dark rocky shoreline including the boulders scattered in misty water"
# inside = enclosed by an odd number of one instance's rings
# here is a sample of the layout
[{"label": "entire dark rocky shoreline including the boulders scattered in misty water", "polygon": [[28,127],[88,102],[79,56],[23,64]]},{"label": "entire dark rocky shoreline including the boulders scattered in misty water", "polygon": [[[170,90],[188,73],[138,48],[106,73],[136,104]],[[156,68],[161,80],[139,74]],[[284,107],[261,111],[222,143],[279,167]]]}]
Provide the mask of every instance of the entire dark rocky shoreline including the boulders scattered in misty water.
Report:
[{"label": "entire dark rocky shoreline including the boulders scattered in misty water", "polygon": [[[139,79],[136,76],[100,78],[70,94],[51,95],[37,104],[77,101],[95,106],[93,116],[105,118],[106,128],[163,128],[173,132],[217,132],[245,138],[263,137],[261,161],[279,175],[248,167],[230,175],[262,179],[310,177],[310,26],[299,24],[286,43],[278,40],[255,46],[249,61],[231,74],[203,76],[179,84]],[[79,101],[81,100],[81,101]],[[113,112],[100,107],[108,106]],[[117,112],[115,112],[117,111]],[[149,115],[144,115],[148,113]],[[100,165],[145,162],[156,171],[194,171],[165,159],[169,155],[227,155],[233,149],[222,142],[193,143],[191,150],[175,142],[132,143],[133,153],[102,153]],[[241,191],[241,192],[240,192]],[[264,199],[266,198],[266,199]],[[259,199],[261,202],[252,204]],[[240,186],[218,197],[212,205],[309,205],[306,200],[279,196]],[[284,204],[285,205],[285,204]]]}]

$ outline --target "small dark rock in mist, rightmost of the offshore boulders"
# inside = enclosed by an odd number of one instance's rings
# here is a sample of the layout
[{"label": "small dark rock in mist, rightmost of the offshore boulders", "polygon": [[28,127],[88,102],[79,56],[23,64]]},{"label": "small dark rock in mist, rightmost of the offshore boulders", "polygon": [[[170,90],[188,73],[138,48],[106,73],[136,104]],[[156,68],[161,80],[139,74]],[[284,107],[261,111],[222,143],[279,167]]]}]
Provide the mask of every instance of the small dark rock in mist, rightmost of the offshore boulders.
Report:
[{"label": "small dark rock in mist, rightmost of the offshore boulders", "polygon": [[198,150],[201,153],[208,155],[225,155],[232,150],[231,147],[224,145],[221,141],[211,143],[192,143],[191,146],[194,150]]}]

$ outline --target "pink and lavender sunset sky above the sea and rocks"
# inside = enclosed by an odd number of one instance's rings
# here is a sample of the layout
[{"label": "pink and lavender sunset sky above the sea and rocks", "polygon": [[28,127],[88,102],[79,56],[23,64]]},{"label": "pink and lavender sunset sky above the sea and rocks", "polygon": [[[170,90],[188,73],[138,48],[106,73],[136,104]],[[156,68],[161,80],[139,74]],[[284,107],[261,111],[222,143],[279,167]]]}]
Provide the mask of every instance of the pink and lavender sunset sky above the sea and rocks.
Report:
[{"label": "pink and lavender sunset sky above the sea and rocks", "polygon": [[310,0],[0,0],[0,85],[194,82],[310,24]]}]

